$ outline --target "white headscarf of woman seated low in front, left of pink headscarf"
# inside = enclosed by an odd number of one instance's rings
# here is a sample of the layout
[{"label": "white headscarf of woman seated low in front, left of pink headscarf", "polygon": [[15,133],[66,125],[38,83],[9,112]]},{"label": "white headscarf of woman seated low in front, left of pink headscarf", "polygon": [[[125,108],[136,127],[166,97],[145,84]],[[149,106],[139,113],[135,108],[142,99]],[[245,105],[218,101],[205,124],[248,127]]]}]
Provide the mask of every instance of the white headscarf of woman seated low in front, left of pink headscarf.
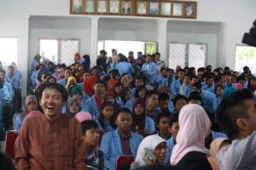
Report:
[{"label": "white headscarf of woman seated low in front, left of pink headscarf", "polygon": [[149,150],[155,150],[158,144],[163,142],[166,143],[166,140],[162,139],[158,135],[150,135],[144,138],[137,149],[137,157],[135,159],[135,163],[137,164],[136,166],[142,167],[147,165],[147,162],[145,161],[145,148],[148,148]]}]

